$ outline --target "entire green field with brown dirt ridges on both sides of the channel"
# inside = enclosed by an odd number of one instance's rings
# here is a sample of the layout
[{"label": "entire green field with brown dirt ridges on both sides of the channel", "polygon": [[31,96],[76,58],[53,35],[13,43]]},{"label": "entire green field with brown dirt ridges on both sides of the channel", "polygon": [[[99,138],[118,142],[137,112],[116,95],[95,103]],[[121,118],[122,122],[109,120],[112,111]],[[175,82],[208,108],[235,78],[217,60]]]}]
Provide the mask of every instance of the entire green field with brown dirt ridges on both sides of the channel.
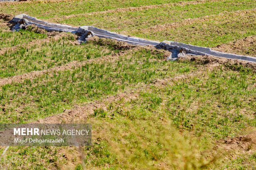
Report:
[{"label": "entire green field with brown dirt ridges on both sides of the channel", "polygon": [[0,169],[254,170],[256,63],[8,23],[17,14],[256,57],[255,0],[0,2],[0,123],[91,123],[86,147],[0,147]]}]

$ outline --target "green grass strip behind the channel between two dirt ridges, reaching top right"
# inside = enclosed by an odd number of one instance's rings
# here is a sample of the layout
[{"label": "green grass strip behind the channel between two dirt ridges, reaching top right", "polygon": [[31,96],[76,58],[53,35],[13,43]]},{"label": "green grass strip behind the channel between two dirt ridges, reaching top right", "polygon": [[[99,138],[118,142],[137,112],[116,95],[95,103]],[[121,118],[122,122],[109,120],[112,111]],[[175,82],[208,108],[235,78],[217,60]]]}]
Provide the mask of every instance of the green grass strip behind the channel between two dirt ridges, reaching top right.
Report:
[{"label": "green grass strip behind the channel between two dirt ridges, reaching top right", "polygon": [[[231,12],[243,9],[253,9],[256,3],[251,0],[225,0],[219,2],[205,2],[192,5],[176,5],[157,7],[141,11],[108,12],[107,14],[88,14],[66,18],[53,18],[50,21],[74,26],[91,25],[110,31],[120,32],[137,30],[144,32],[145,28],[194,19],[221,12]],[[108,22],[105,22],[108,21]],[[157,31],[157,30],[156,30]],[[155,40],[161,40],[152,34]],[[166,39],[165,39],[166,40]]]}]

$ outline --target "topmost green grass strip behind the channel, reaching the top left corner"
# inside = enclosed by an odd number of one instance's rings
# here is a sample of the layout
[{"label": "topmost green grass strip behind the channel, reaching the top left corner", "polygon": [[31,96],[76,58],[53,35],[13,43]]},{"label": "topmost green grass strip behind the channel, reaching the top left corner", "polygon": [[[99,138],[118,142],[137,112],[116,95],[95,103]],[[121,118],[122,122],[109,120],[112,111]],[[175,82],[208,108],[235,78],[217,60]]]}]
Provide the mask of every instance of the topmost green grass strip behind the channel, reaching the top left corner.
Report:
[{"label": "topmost green grass strip behind the channel, reaching the top left corner", "polygon": [[0,4],[0,13],[21,14],[26,13],[41,19],[55,16],[67,16],[88,12],[106,11],[109,9],[140,7],[141,5],[159,5],[190,0],[86,0],[68,2],[28,2],[18,4]]}]

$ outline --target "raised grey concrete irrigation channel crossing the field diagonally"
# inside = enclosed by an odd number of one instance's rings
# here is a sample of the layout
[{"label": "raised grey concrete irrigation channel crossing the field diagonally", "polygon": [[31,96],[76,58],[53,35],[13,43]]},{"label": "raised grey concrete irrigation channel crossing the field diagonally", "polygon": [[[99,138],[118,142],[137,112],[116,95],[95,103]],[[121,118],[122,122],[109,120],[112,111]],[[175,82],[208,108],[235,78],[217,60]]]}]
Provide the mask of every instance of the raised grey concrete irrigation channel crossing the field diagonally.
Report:
[{"label": "raised grey concrete irrigation channel crossing the field diagonally", "polygon": [[198,47],[190,44],[184,44],[180,42],[173,42],[173,41],[151,41],[145,40],[142,38],[137,37],[130,37],[126,35],[121,35],[117,33],[110,32],[108,30],[103,30],[100,28],[96,28],[93,26],[80,26],[80,27],[73,27],[67,26],[57,23],[49,23],[46,21],[39,20],[35,17],[28,16],[26,14],[19,14],[14,16],[14,18],[10,21],[15,23],[14,27],[12,28],[13,31],[17,31],[26,25],[35,25],[38,28],[43,28],[48,31],[64,31],[70,33],[78,33],[81,36],[78,38],[79,42],[85,42],[89,37],[98,36],[100,38],[110,38],[115,39],[122,42],[128,42],[130,44],[142,45],[142,46],[154,46],[158,49],[166,49],[172,52],[172,55],[168,58],[169,60],[175,60],[179,56],[185,56],[186,54],[190,55],[200,55],[200,56],[216,56],[222,58],[230,58],[230,59],[238,59],[243,61],[249,62],[256,62],[255,57],[251,56],[243,56],[237,54],[229,54],[220,51],[215,51],[210,48],[206,47]]}]

